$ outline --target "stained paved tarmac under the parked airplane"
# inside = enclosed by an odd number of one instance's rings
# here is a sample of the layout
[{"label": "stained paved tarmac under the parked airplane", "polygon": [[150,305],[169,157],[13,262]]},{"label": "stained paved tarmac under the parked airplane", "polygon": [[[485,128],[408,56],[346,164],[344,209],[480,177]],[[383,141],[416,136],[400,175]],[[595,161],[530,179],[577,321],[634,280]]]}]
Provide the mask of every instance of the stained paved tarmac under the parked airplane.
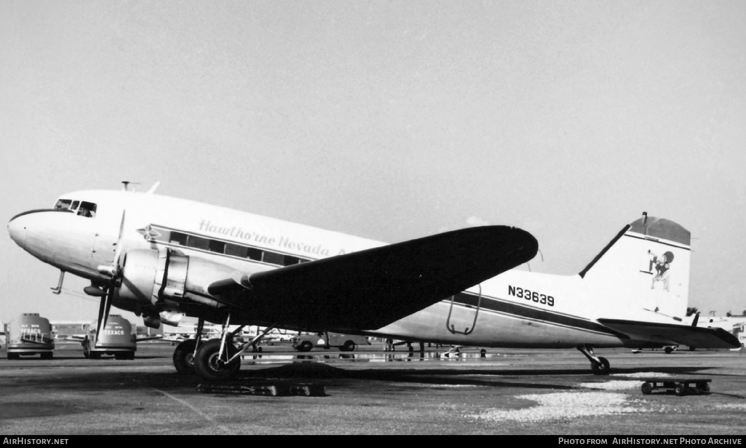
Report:
[{"label": "stained paved tarmac under the parked airplane", "polygon": [[[172,366],[174,347],[144,343],[134,361],[0,352],[0,433],[743,435],[746,356],[738,351],[597,350],[612,374],[594,376],[577,350],[298,353],[286,344],[247,353],[250,388],[313,385],[322,396],[211,394]],[[404,350],[402,350],[404,349]],[[643,395],[642,379],[712,379],[709,394]],[[610,442],[610,441],[609,441]]]}]

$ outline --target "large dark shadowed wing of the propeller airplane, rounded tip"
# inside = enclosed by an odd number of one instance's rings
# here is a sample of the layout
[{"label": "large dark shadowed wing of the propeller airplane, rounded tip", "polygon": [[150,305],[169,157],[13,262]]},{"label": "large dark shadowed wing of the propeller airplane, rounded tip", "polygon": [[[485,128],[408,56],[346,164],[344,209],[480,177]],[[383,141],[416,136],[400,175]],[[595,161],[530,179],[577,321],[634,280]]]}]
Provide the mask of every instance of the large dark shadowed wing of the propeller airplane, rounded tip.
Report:
[{"label": "large dark shadowed wing of the propeller airplane, rounded tip", "polygon": [[[304,329],[377,329],[527,262],[538,243],[486,226],[220,280],[208,291],[251,321]],[[245,283],[245,282],[244,282]]]}]

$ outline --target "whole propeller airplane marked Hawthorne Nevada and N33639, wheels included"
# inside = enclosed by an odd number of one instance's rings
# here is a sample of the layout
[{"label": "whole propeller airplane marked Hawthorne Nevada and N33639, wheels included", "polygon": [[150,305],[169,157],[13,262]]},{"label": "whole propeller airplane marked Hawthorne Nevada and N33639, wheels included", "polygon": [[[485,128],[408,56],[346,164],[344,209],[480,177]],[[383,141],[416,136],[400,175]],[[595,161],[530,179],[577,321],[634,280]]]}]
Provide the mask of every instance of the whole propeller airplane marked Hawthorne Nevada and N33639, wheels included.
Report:
[{"label": "whole propeller airplane marked Hawthorne Nevada and N33639, wheels included", "polygon": [[[240,353],[273,328],[576,347],[597,374],[609,373],[609,362],[594,347],[739,347],[724,330],[683,323],[689,231],[667,219],[643,215],[580,274],[558,276],[512,269],[538,247],[514,227],[386,245],[153,189],[68,193],[7,227],[20,247],[60,269],[58,288],[65,272],[90,280],[84,291],[101,297],[99,326],[112,305],[154,327],[197,317],[195,339],[174,353],[181,373],[231,378]],[[224,330],[198,344],[204,321]],[[236,347],[239,330],[226,331],[229,324],[266,330]]]}]

